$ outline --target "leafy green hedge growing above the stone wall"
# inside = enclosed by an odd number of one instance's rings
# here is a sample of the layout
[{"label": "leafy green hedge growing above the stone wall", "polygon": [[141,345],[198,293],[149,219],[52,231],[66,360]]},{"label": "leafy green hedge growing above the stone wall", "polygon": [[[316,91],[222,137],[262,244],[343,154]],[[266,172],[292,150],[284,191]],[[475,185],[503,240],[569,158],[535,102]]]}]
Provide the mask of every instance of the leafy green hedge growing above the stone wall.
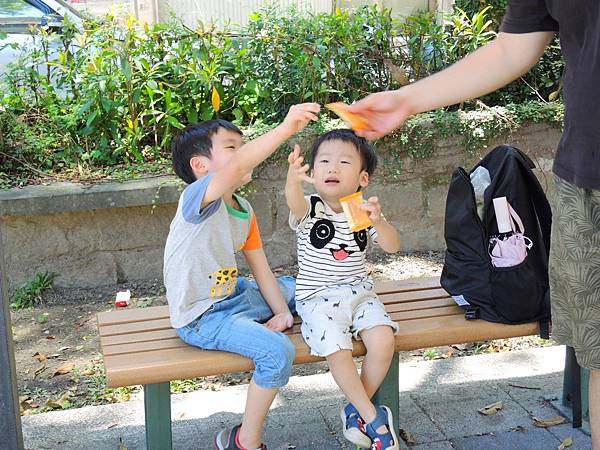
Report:
[{"label": "leafy green hedge growing above the stone wall", "polygon": [[[0,78],[0,186],[165,171],[186,123],[268,127],[294,103],[397,88],[493,39],[489,11],[457,11],[447,25],[429,13],[399,23],[365,7],[309,16],[266,9],[243,29],[122,26],[107,16],[83,33],[35,30],[35,46]],[[541,90],[517,83],[485,101],[547,97],[562,70],[551,51],[531,75]]]}]

